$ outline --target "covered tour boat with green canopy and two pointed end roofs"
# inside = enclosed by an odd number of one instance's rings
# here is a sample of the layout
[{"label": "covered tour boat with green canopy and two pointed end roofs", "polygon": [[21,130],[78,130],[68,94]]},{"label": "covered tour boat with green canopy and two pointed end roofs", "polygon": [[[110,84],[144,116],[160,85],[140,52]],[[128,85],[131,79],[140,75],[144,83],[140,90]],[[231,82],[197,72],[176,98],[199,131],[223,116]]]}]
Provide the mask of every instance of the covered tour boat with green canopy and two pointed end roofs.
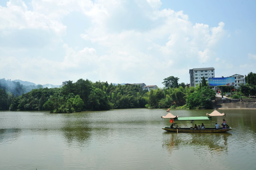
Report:
[{"label": "covered tour boat with green canopy and two pointed end roofs", "polygon": [[[211,114],[206,113],[206,116],[196,116],[196,117],[181,117],[174,116],[172,113],[168,113],[166,116],[161,116],[163,119],[162,129],[168,132],[188,132],[188,133],[218,133],[218,132],[227,132],[232,130],[227,124],[220,128],[216,129],[215,124],[217,119],[212,120],[212,117],[226,117],[225,113],[220,113],[217,110],[212,111]],[[171,126],[166,127],[166,119],[170,119]],[[191,123],[191,124],[190,124]],[[195,125],[204,124],[203,129],[195,127]],[[184,126],[184,127],[183,127]]]}]

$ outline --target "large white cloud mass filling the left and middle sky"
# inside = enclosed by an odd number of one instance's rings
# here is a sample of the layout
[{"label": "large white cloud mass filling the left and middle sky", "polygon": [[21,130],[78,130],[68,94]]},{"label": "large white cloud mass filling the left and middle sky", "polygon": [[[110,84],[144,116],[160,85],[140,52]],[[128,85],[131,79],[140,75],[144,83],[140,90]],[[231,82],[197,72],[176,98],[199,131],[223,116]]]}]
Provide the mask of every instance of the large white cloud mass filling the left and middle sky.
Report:
[{"label": "large white cloud mass filling the left and middle sky", "polygon": [[[212,49],[225,24],[193,24],[183,11],[160,6],[160,0],[10,0],[0,7],[0,63],[6,63],[0,71],[14,77],[4,71],[11,64],[23,73],[15,78],[41,84],[88,78],[160,85],[168,76],[188,83],[182,77],[189,69],[215,61]],[[70,16],[81,23],[73,26]],[[23,51],[9,52],[17,48]]]}]

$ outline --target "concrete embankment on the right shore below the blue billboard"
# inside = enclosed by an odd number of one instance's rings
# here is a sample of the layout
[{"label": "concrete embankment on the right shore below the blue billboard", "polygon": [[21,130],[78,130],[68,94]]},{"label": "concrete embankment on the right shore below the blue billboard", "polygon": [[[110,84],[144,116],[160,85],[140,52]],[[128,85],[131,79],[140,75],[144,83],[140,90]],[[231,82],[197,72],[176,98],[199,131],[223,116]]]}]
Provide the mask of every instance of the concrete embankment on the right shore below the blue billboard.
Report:
[{"label": "concrete embankment on the right shore below the blue billboard", "polygon": [[256,109],[256,99],[225,99],[212,102],[214,109]]}]

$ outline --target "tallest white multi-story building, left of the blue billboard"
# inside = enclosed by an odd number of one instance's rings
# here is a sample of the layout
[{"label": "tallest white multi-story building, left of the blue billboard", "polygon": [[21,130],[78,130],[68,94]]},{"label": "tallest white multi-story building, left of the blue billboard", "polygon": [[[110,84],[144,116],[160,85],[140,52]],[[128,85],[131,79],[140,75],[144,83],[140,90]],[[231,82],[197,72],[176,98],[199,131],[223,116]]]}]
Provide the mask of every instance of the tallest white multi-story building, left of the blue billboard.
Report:
[{"label": "tallest white multi-story building, left of the blue billboard", "polygon": [[189,70],[190,86],[196,87],[196,85],[202,84],[203,77],[208,82],[209,78],[214,78],[214,68],[193,68]]}]

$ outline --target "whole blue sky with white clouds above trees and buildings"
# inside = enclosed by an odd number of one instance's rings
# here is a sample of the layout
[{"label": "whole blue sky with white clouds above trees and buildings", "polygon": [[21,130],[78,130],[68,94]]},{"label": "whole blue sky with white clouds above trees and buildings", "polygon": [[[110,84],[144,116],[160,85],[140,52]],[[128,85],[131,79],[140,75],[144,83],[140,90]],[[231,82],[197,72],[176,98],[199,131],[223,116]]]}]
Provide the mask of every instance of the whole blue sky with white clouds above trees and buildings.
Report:
[{"label": "whole blue sky with white clouds above trees and buildings", "polygon": [[255,0],[1,0],[0,78],[145,83],[256,73]]}]

